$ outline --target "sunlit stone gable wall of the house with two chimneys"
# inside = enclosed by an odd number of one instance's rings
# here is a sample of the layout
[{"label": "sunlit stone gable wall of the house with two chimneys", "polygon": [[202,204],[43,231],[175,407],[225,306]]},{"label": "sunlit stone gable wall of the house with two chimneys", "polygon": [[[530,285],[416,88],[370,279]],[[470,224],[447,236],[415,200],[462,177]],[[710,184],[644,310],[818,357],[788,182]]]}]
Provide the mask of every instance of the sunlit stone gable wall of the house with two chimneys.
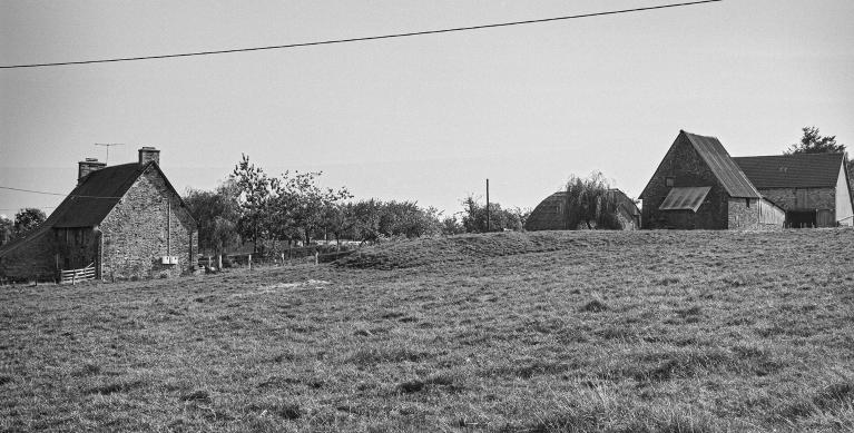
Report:
[{"label": "sunlit stone gable wall of the house with two chimneys", "polygon": [[[198,253],[195,223],[188,209],[154,167],[128,189],[100,230],[106,279],[178,276],[192,268],[192,258]],[[178,257],[177,265],[161,264],[161,257],[169,255]]]}]

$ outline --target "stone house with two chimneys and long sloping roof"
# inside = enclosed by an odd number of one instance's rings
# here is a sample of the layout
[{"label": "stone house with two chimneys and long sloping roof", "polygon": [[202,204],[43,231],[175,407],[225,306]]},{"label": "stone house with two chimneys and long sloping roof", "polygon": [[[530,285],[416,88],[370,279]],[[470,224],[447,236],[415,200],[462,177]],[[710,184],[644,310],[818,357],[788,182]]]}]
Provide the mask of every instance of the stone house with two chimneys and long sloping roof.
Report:
[{"label": "stone house with two chimneys and long sloping roof", "polygon": [[137,163],[78,165],[77,187],[39,227],[0,247],[0,276],[52,281],[92,265],[98,278],[177,276],[193,269],[196,222],[159,166],[159,150]]}]

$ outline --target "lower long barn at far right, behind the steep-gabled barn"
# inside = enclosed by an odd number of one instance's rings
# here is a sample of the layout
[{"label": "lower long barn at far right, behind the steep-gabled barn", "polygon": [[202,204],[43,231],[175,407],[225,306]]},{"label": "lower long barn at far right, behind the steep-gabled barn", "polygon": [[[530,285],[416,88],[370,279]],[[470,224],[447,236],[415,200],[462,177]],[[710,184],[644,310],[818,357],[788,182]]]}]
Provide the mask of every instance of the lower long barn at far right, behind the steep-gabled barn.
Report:
[{"label": "lower long barn at far right, behind the steep-gabled barn", "polygon": [[788,227],[854,225],[844,154],[733,158],[759,193],[786,210]]}]

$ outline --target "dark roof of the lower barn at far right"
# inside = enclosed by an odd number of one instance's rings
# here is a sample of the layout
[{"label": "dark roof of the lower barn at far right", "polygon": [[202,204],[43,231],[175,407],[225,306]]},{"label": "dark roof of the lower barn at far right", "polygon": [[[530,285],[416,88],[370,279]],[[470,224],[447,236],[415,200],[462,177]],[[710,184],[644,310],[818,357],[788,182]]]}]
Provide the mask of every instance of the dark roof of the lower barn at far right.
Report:
[{"label": "dark roof of the lower barn at far right", "polygon": [[844,154],[797,154],[733,158],[757,188],[836,186]]}]

